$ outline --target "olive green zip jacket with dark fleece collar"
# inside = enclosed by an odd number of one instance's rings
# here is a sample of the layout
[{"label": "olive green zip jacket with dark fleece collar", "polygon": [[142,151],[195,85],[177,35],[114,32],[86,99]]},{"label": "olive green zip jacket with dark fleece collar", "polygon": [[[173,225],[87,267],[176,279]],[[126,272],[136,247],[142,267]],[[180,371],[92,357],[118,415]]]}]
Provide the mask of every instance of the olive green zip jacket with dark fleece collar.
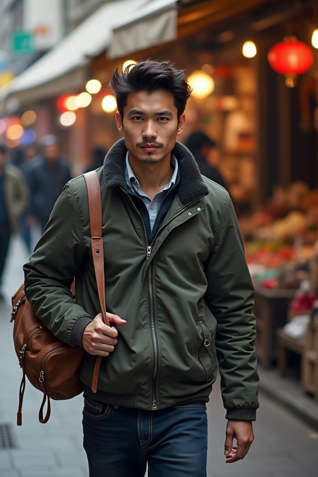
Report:
[{"label": "olive green zip jacket with dark fleece collar", "polygon": [[[123,139],[97,169],[103,207],[106,309],[127,323],[102,359],[90,391],[95,356],[86,353],[86,393],[108,404],[163,409],[208,400],[217,362],[228,419],[254,420],[258,376],[253,286],[236,215],[223,187],[200,175],[176,143],[181,168],[176,195],[154,242],[125,190]],[[81,346],[101,309],[91,250],[83,176],[64,188],[44,235],[24,266],[26,296],[54,335]],[[70,286],[76,277],[76,303]]]}]

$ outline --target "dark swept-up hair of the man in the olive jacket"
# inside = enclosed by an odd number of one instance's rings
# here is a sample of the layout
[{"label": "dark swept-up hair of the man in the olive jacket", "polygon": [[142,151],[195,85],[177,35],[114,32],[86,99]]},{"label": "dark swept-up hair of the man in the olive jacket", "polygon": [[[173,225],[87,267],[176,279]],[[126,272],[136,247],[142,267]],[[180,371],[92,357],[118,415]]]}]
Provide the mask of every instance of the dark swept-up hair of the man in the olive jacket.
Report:
[{"label": "dark swept-up hair of the man in the olive jacket", "polygon": [[153,93],[162,89],[173,94],[179,121],[192,91],[183,70],[175,69],[171,62],[153,60],[139,61],[133,65],[133,68],[132,65],[128,65],[122,74],[119,68],[116,68],[112,74],[110,85],[115,93],[118,111],[122,117],[128,93],[134,91]]}]

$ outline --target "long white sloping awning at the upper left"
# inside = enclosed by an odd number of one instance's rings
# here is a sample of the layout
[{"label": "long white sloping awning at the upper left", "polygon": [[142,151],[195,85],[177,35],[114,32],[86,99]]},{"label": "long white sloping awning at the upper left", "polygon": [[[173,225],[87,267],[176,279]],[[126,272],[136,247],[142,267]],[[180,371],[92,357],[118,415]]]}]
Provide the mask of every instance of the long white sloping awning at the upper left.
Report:
[{"label": "long white sloping awning at the upper left", "polygon": [[[109,45],[113,25],[123,17],[123,12],[130,14],[146,1],[117,0],[104,4],[54,48],[14,78],[9,87],[3,88],[0,91],[0,99],[4,99],[9,94],[29,91],[39,86],[38,91],[32,94],[33,99],[47,97],[50,91],[51,96],[55,95],[56,90],[61,87],[62,90],[58,94],[62,93],[63,89],[76,89],[79,86],[78,83],[83,81],[85,66],[90,58],[103,52]],[[71,74],[72,72],[75,74]],[[59,88],[41,88],[42,85],[51,84],[53,80],[62,80],[62,77],[65,77],[65,82],[59,82]],[[42,94],[41,91],[43,91]],[[19,96],[21,95],[18,94]]]}]

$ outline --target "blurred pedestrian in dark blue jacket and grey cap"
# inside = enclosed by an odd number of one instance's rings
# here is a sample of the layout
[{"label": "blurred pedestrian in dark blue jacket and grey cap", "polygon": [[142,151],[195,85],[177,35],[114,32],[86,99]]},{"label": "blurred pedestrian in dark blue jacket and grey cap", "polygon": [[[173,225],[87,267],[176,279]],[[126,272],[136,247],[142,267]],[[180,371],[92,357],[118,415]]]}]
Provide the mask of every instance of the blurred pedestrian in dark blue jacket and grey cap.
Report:
[{"label": "blurred pedestrian in dark blue jacket and grey cap", "polygon": [[42,138],[41,153],[32,159],[27,177],[31,191],[31,214],[43,231],[57,198],[71,179],[69,166],[60,154],[54,135]]}]

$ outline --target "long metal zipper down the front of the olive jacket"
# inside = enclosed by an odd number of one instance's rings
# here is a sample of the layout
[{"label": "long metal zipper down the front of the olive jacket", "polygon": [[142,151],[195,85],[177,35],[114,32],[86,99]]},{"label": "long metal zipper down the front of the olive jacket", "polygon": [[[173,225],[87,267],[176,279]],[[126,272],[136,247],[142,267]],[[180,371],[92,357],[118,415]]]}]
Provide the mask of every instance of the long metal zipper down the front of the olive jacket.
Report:
[{"label": "long metal zipper down the front of the olive jacket", "polygon": [[[196,199],[194,202],[191,202],[189,205],[184,207],[183,209],[179,210],[174,216],[170,217],[169,220],[167,220],[157,231],[156,235],[154,236],[154,240],[152,241],[151,245],[148,245],[148,240],[147,240],[147,232],[146,228],[144,226],[144,220],[142,218],[141,213],[137,209],[137,207],[133,203],[133,199],[130,197],[127,191],[121,187],[123,192],[127,194],[129,197],[131,203],[133,204],[134,209],[136,210],[137,214],[139,215],[141,222],[144,227],[144,237],[146,241],[146,247],[147,247],[147,254],[146,254],[146,261],[149,260],[150,254],[152,251],[152,248],[154,246],[154,241],[157,238],[157,235],[159,232],[166,226],[168,225],[174,218],[178,217],[180,214],[182,214],[187,208],[193,206],[197,202],[200,202],[203,197],[200,197],[199,199]],[[157,377],[157,372],[158,372],[158,340],[157,340],[157,332],[156,332],[156,325],[155,325],[155,319],[154,319],[154,292],[153,292],[153,284],[152,284],[152,265],[149,266],[148,269],[148,299],[150,301],[150,327],[151,327],[151,333],[152,333],[152,343],[153,343],[153,350],[154,350],[154,371],[153,371],[153,382],[152,382],[152,403],[151,403],[151,409],[155,411],[157,409],[157,397],[156,397],[156,377]]]}]

